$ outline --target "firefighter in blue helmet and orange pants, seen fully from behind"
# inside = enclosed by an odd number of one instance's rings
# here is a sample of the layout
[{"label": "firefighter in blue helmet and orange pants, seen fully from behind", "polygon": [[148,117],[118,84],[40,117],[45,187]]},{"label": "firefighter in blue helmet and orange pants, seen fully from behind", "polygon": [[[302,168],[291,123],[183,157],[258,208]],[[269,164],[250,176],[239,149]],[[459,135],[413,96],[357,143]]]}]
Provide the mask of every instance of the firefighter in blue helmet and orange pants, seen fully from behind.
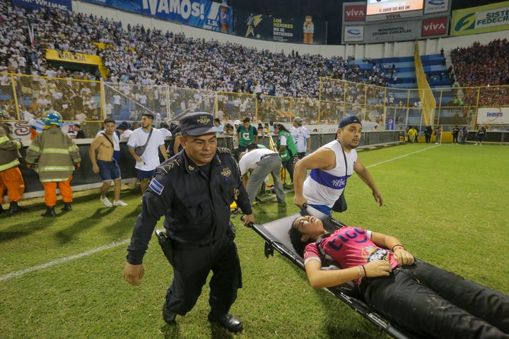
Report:
[{"label": "firefighter in blue helmet and orange pants, seen fully from behind", "polygon": [[70,182],[75,166],[80,166],[81,157],[78,146],[60,129],[62,116],[59,112],[46,112],[42,122],[45,124],[44,129],[28,147],[26,162],[28,168],[39,173],[40,182],[45,188],[47,209],[42,216],[53,217],[56,215],[54,206],[57,204],[57,185],[64,201],[62,210],[72,210]]}]

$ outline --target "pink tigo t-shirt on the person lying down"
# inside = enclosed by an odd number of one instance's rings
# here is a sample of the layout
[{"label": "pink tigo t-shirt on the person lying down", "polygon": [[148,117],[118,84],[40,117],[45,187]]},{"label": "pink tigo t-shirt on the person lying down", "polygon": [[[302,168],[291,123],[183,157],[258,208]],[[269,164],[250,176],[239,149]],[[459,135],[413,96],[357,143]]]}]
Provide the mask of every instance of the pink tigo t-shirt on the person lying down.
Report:
[{"label": "pink tigo t-shirt on the person lying down", "polygon": [[[358,227],[341,227],[335,230],[329,237],[320,240],[325,254],[339,263],[341,268],[350,268],[365,265],[375,260],[387,260],[391,268],[398,266],[392,251],[382,249],[371,241],[371,231]],[[322,256],[317,245],[312,242],[305,247],[304,263],[310,260],[322,262]]]}]

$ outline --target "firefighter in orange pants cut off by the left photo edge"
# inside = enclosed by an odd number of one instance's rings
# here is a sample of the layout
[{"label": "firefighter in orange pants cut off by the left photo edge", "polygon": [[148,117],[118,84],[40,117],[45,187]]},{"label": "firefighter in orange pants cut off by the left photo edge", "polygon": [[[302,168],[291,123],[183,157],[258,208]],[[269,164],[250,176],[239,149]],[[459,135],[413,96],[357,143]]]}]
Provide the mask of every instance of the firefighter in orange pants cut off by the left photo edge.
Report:
[{"label": "firefighter in orange pants cut off by the left photo edge", "polygon": [[[12,128],[4,122],[9,116],[0,109],[0,203],[7,189],[8,213],[23,212],[26,208],[18,206],[25,191],[25,182],[18,167],[21,143],[13,139]],[[5,212],[0,205],[0,213]]]}]

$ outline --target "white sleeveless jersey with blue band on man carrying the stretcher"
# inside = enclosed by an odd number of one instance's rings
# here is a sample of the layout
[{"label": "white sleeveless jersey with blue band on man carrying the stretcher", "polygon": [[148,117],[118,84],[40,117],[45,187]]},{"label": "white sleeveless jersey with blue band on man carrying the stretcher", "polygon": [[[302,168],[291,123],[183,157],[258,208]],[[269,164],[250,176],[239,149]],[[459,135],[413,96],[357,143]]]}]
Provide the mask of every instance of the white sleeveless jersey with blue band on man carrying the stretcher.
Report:
[{"label": "white sleeveless jersey with blue band on man carrying the stretcher", "polygon": [[351,150],[350,153],[344,153],[348,163],[348,172],[346,172],[341,144],[334,140],[322,147],[334,151],[336,167],[327,170],[311,169],[310,175],[304,181],[303,195],[312,205],[326,205],[332,208],[343,193],[346,181],[353,174],[357,151]]}]

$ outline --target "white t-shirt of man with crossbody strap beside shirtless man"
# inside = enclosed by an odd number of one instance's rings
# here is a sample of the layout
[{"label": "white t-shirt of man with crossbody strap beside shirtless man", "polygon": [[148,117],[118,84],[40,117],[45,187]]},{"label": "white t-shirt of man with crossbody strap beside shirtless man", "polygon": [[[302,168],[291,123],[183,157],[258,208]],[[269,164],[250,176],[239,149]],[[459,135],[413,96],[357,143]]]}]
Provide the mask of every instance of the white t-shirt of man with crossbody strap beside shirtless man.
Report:
[{"label": "white t-shirt of man with crossbody strap beside shirtless man", "polygon": [[[136,147],[145,145],[148,133],[144,131],[143,127],[139,129],[135,129],[131,136],[129,136],[129,141],[127,141],[127,146]],[[141,159],[144,162],[136,162],[134,166],[137,169],[141,169],[142,171],[151,171],[156,169],[159,166],[159,146],[164,145],[163,134],[160,133],[158,129],[152,128],[152,135],[150,140],[148,141],[147,147],[145,148],[145,152],[141,155]]]}]

